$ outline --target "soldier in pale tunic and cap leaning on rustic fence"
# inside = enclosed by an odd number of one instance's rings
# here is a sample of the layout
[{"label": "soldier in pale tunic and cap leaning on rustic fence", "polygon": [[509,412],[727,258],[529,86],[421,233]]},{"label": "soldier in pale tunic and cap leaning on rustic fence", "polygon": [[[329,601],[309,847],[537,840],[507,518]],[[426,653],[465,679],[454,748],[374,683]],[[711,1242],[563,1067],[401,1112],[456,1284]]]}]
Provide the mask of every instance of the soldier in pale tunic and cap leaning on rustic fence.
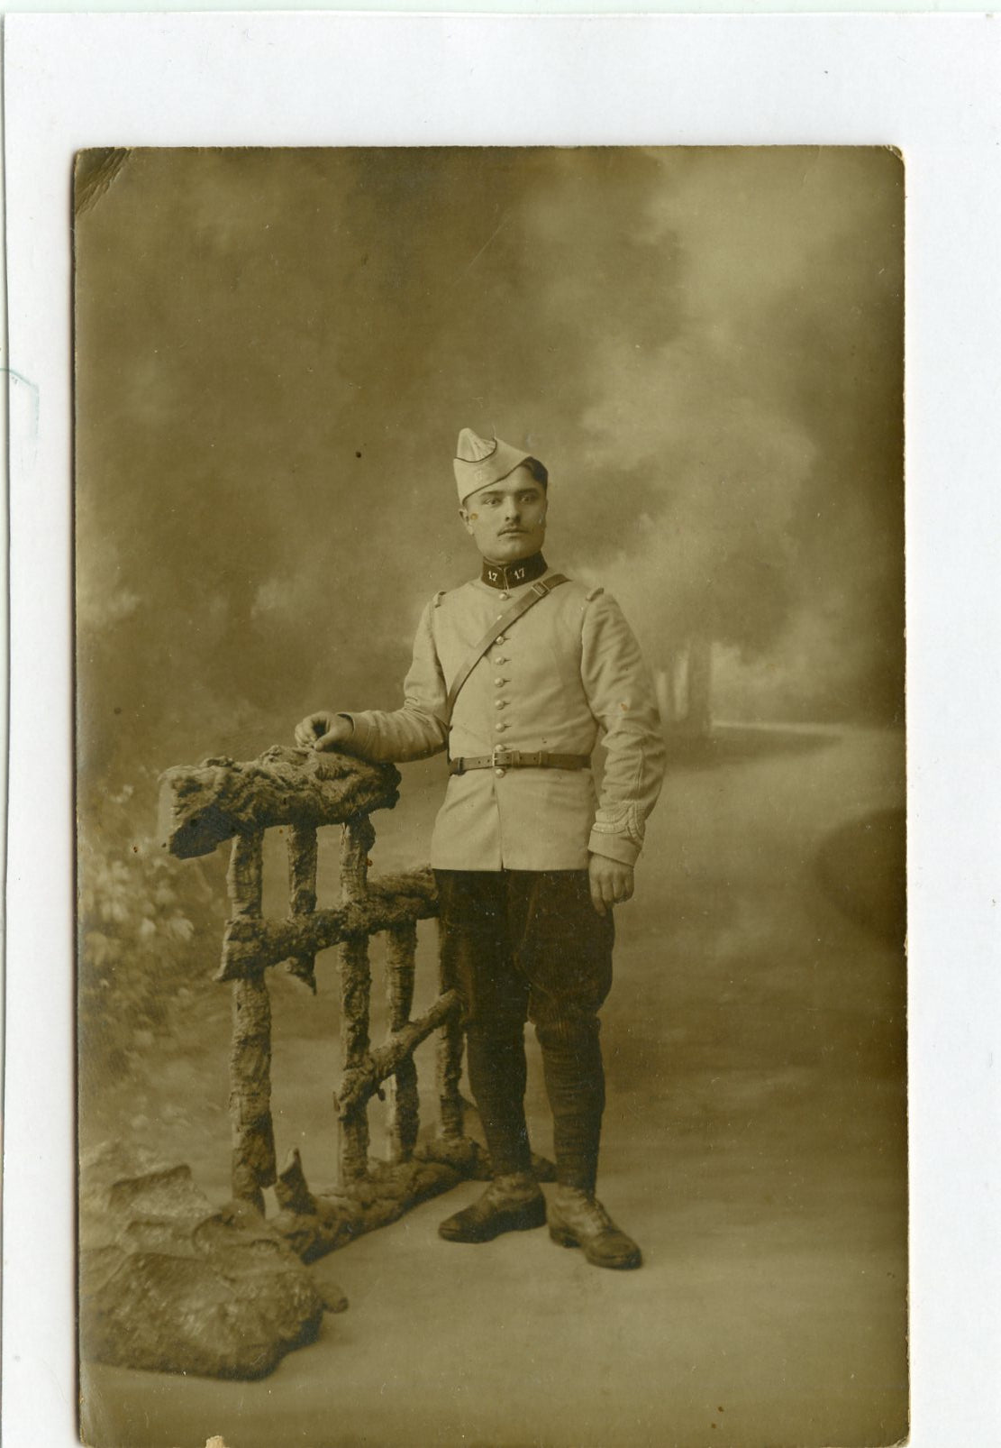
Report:
[{"label": "soldier in pale tunic and cap leaning on rustic fence", "polygon": [[618,604],[542,557],[542,463],[463,429],[454,472],[482,572],[424,610],[404,707],[311,714],[295,738],[370,760],[448,750],[431,864],[493,1180],[441,1222],[441,1237],[486,1242],[547,1221],[524,1109],[531,1021],[554,1122],[550,1235],[599,1267],[638,1267],[639,1248],[595,1196],[605,1106],[597,1011],[612,983],[612,909],[632,896],[664,769],[652,688]]}]

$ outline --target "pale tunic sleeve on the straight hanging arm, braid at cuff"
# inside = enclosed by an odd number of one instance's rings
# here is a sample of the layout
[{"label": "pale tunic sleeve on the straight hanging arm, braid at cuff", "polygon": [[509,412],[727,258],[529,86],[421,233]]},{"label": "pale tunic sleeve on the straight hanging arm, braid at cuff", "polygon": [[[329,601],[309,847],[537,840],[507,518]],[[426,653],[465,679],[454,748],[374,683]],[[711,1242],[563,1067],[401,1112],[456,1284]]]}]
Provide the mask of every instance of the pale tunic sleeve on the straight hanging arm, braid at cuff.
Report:
[{"label": "pale tunic sleeve on the straight hanging arm, braid at cuff", "polygon": [[582,678],[606,754],[587,847],[593,854],[635,864],[664,778],[664,736],[654,686],[639,644],[608,594],[589,599],[582,641]]}]

